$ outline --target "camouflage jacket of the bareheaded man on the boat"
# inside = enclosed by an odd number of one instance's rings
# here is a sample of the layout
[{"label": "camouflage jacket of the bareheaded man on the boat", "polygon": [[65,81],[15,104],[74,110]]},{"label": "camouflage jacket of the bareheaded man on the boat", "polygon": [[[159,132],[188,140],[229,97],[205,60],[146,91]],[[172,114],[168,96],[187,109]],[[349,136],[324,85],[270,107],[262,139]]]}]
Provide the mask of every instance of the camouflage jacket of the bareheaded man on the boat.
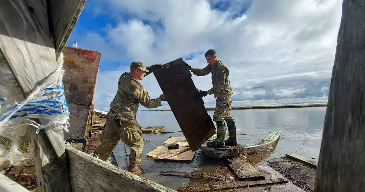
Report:
[{"label": "camouflage jacket of the bareheaded man on the boat", "polygon": [[231,83],[229,80],[229,70],[227,65],[218,60],[214,65],[207,65],[203,69],[192,69],[194,75],[204,76],[212,73],[212,89],[208,90],[208,94],[214,94],[214,98],[223,95],[232,95]]}]

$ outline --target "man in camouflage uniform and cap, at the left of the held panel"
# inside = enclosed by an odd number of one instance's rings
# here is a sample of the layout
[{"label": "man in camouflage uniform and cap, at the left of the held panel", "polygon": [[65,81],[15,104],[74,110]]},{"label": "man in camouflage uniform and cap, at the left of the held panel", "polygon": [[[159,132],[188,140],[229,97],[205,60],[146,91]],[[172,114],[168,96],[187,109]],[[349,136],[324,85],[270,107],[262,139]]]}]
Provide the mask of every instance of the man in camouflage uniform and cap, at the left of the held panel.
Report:
[{"label": "man in camouflage uniform and cap, at the left of the held panel", "polygon": [[[147,90],[138,80],[142,80],[145,75],[158,68],[162,68],[162,65],[146,67],[141,62],[133,62],[130,66],[131,72],[125,72],[120,76],[118,92],[110,103],[107,121],[100,138],[101,144],[96,148],[94,157],[105,161],[119,139],[122,139],[131,149],[128,171],[137,175],[144,172],[143,168],[138,167],[141,163],[144,144],[142,129],[136,120],[138,104],[141,103],[146,108],[157,108],[161,106],[161,101],[166,101],[166,98],[161,95],[157,99],[150,99]],[[121,125],[117,124],[119,120]]]}]

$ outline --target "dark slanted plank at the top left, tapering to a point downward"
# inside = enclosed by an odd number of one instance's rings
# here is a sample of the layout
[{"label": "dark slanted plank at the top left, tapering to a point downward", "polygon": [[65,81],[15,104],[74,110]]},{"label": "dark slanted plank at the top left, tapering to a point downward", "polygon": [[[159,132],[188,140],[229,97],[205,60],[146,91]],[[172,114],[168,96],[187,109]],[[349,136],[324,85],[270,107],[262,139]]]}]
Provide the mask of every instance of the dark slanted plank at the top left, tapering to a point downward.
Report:
[{"label": "dark slanted plank at the top left, tapering to a point downward", "polygon": [[50,29],[55,41],[57,58],[64,48],[85,3],[86,0],[47,1]]}]

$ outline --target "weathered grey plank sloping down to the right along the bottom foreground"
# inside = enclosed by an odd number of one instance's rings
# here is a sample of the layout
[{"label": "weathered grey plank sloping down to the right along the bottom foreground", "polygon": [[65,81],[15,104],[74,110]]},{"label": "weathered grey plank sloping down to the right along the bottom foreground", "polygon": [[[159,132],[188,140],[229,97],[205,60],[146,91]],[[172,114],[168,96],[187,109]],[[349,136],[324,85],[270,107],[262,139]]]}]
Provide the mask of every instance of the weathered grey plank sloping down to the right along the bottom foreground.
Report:
[{"label": "weathered grey plank sloping down to the right along the bottom foreground", "polygon": [[65,146],[65,148],[69,160],[72,192],[176,192],[70,146]]}]

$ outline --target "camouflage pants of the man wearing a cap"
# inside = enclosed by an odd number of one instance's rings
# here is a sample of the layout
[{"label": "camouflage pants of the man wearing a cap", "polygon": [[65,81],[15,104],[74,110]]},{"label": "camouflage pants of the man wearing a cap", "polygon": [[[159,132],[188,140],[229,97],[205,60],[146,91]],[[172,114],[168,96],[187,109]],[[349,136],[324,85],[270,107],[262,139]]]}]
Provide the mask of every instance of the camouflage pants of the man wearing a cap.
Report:
[{"label": "camouflage pants of the man wearing a cap", "polygon": [[[122,121],[122,127],[119,128],[113,120],[114,116],[115,113],[109,110],[106,116],[107,122],[104,125],[103,133],[101,133],[101,144],[96,148],[94,156],[96,157],[96,154],[98,154],[99,159],[105,161],[119,142],[119,139],[122,139],[124,144],[131,149],[129,165],[137,166],[141,163],[144,144],[141,127],[137,121],[132,120]],[[131,129],[139,129],[139,131],[130,131]]]}]

